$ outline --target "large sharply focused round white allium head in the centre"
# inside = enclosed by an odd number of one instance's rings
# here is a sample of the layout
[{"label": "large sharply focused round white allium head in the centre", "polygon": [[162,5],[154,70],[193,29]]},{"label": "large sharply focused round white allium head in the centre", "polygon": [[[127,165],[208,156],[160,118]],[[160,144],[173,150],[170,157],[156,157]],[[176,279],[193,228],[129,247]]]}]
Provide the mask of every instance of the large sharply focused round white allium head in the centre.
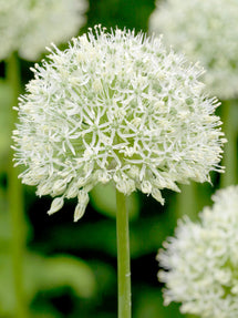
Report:
[{"label": "large sharply focused round white allium head in the centre", "polygon": [[13,133],[22,182],[61,195],[50,213],[77,196],[77,219],[87,193],[111,181],[125,195],[137,188],[163,203],[162,188],[223,170],[218,103],[201,93],[203,70],[161,39],[95,27],[50,51],[33,69]]}]

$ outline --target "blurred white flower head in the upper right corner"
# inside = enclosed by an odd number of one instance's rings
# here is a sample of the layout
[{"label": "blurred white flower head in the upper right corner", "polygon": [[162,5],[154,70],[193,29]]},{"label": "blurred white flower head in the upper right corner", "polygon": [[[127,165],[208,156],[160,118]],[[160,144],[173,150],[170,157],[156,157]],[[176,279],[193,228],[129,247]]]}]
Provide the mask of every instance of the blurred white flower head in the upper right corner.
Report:
[{"label": "blurred white flower head in the upper right corner", "polygon": [[157,1],[149,29],[207,70],[205,82],[220,99],[238,95],[238,1]]}]

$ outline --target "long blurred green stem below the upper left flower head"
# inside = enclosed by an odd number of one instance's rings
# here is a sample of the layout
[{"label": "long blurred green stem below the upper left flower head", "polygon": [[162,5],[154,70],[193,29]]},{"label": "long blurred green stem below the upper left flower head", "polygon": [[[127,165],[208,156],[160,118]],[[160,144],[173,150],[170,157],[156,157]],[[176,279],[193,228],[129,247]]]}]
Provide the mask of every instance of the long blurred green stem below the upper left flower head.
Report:
[{"label": "long blurred green stem below the upper left flower head", "polygon": [[[12,107],[18,104],[20,93],[20,68],[17,54],[12,54],[7,62],[7,80],[12,89]],[[11,107],[12,130],[17,121],[17,112]],[[27,306],[23,291],[23,255],[25,248],[25,223],[23,208],[23,193],[18,170],[12,164],[13,152],[10,151],[10,163],[8,168],[8,198],[11,214],[12,230],[12,269],[15,290],[15,315],[17,318],[27,318]]]}]

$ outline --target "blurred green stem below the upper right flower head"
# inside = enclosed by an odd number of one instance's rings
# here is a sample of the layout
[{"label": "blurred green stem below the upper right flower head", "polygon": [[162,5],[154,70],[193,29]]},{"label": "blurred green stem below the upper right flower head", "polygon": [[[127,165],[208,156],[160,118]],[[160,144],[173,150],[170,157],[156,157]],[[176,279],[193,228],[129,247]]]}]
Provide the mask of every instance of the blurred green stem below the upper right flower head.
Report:
[{"label": "blurred green stem below the upper right flower head", "polygon": [[220,187],[237,184],[237,132],[234,123],[232,102],[226,101],[221,105],[223,130],[228,142],[224,147],[223,165],[226,172],[220,175]]}]

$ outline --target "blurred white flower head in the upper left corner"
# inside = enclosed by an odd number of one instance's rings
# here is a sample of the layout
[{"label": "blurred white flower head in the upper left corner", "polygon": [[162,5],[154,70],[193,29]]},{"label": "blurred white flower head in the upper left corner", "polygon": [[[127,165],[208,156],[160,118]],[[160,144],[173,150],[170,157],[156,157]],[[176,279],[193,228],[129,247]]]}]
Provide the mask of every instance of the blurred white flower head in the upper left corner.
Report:
[{"label": "blurred white flower head in the upper left corner", "polygon": [[62,43],[85,23],[86,0],[0,0],[0,60],[18,51],[35,61],[52,41]]}]

